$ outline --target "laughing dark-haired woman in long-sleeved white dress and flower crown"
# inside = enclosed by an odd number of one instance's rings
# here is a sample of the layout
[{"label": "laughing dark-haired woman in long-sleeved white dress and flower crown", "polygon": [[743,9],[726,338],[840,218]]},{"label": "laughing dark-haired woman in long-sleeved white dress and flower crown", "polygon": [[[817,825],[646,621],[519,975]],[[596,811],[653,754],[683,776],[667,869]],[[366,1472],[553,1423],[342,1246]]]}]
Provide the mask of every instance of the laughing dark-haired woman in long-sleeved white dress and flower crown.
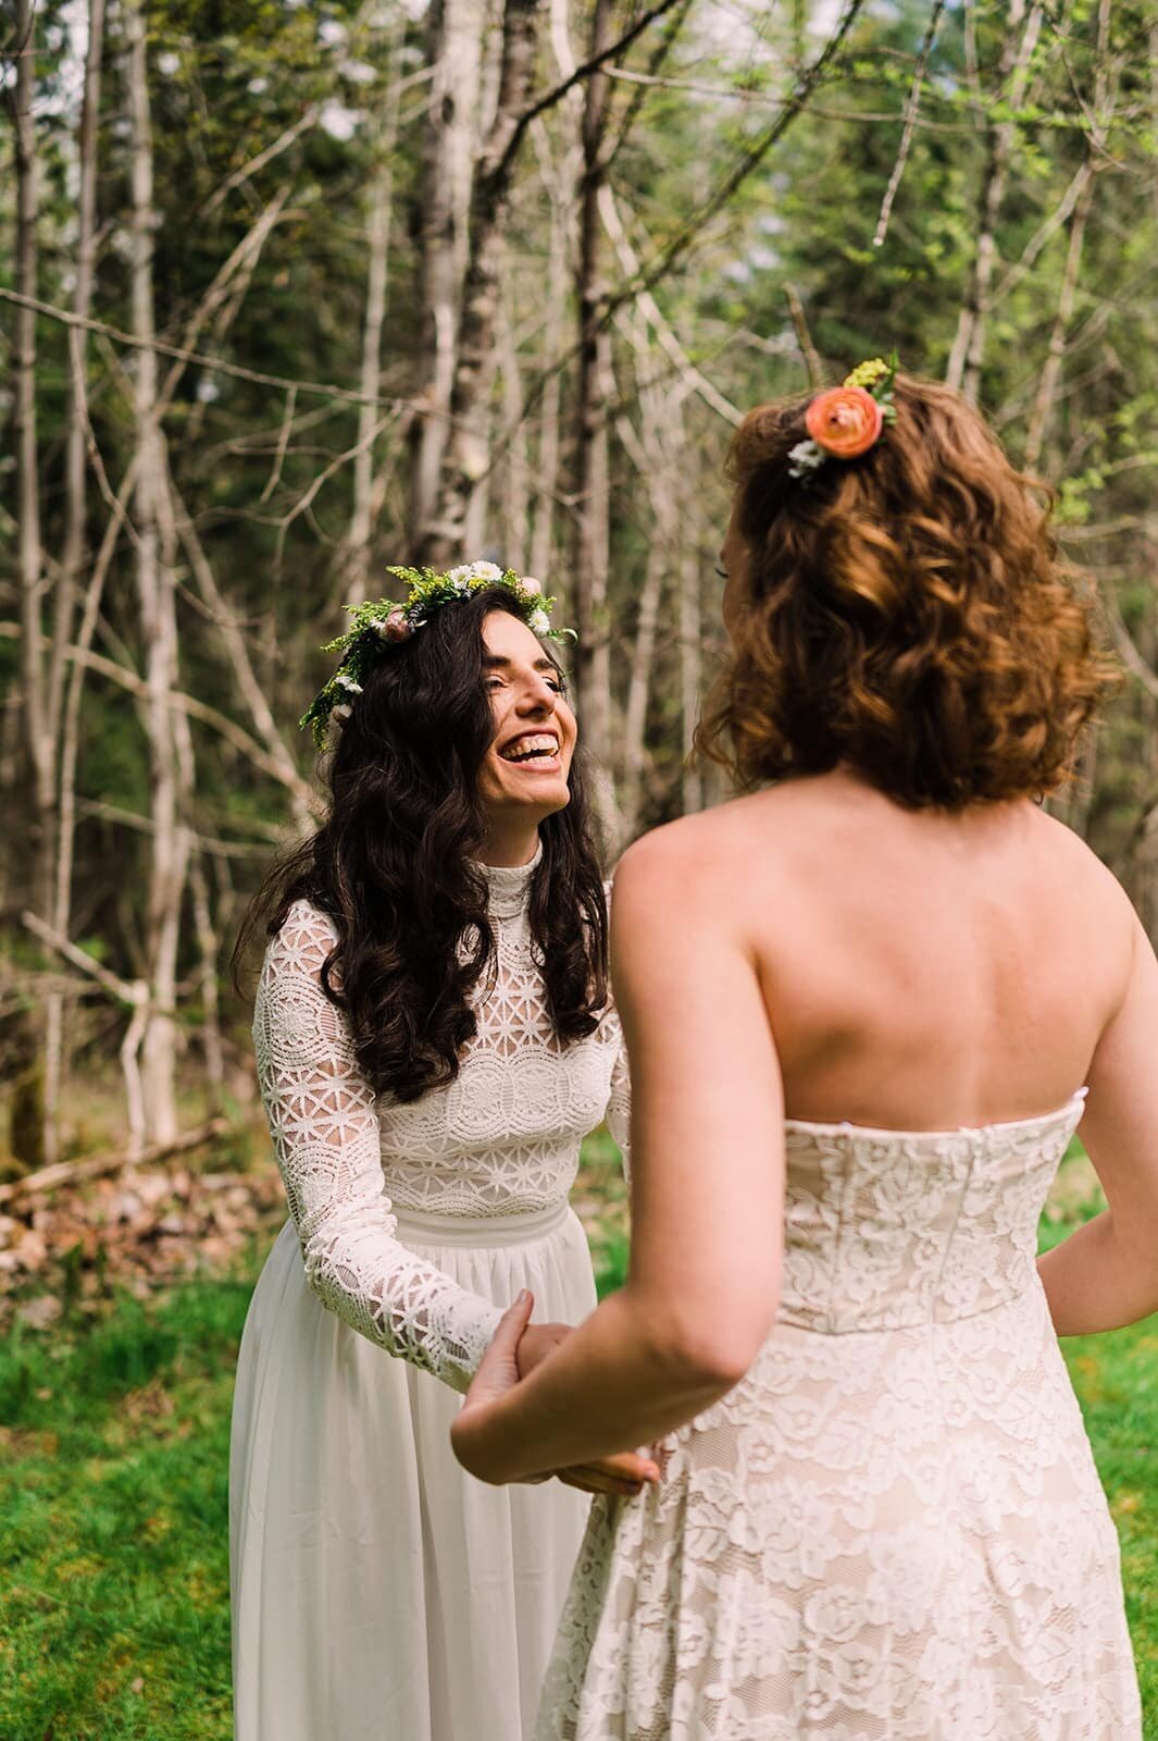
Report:
[{"label": "laughing dark-haired woman in long-sleeved white dress and flower crown", "polygon": [[520,1290],[544,1320],[523,1374],[595,1306],[567,1194],[605,1112],[626,1135],[548,602],[487,564],[358,608],[306,716],[343,719],[329,811],[238,942],[268,935],[254,1038],[290,1220],[238,1356],[236,1741],[529,1736],[584,1490],[652,1473],[581,1459],[485,1492],[449,1445]]}]

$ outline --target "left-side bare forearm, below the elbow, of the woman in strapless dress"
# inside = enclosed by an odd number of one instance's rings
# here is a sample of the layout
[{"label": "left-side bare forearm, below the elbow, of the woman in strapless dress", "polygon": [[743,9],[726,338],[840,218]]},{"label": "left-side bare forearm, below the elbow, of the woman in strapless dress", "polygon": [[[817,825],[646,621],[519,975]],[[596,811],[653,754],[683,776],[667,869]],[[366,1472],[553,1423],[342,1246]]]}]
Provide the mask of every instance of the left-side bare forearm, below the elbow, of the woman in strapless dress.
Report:
[{"label": "left-side bare forearm, below the elbow, of the woman in strapless dress", "polygon": [[454,1447],[480,1480],[516,1482],[650,1445],[735,1379],[682,1356],[678,1341],[624,1288],[530,1379],[459,1415]]}]

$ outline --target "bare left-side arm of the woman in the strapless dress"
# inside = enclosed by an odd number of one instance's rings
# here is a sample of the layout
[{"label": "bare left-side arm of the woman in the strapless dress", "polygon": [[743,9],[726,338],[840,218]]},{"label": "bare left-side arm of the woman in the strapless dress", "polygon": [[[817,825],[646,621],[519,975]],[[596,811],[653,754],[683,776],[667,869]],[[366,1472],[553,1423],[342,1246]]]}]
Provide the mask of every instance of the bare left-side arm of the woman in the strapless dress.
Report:
[{"label": "bare left-side arm of the woman in the strapless dress", "polygon": [[504,1482],[647,1443],[748,1370],[779,1304],[779,1065],[735,900],[697,820],[616,877],[612,970],[631,1055],[631,1273],[536,1374],[468,1403],[459,1459]]}]

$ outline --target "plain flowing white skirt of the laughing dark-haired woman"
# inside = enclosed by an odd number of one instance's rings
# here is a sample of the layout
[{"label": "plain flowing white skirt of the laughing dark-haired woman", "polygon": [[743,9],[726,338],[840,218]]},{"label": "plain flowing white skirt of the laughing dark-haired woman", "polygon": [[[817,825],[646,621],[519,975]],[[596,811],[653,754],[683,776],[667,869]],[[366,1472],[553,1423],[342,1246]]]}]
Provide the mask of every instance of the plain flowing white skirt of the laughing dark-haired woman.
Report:
[{"label": "plain flowing white skirt of the laughing dark-haired woman", "polygon": [[[497,1306],[530,1288],[536,1321],[579,1323],[582,1227],[541,1222],[400,1217],[400,1238]],[[235,1741],[529,1741],[589,1502],[471,1480],[459,1405],[322,1306],[287,1224],[233,1403]]]}]

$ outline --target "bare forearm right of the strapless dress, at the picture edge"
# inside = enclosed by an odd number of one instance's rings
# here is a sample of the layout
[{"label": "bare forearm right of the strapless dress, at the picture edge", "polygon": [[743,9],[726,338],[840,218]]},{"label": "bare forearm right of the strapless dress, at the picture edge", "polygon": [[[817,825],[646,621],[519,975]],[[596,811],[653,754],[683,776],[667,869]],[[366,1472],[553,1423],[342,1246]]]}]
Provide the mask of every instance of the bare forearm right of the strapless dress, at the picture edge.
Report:
[{"label": "bare forearm right of the strapless dress, at the picture edge", "polygon": [[1038,1259],[1057,1335],[1120,1330],[1158,1311],[1158,1248],[1123,1241],[1109,1212]]}]

